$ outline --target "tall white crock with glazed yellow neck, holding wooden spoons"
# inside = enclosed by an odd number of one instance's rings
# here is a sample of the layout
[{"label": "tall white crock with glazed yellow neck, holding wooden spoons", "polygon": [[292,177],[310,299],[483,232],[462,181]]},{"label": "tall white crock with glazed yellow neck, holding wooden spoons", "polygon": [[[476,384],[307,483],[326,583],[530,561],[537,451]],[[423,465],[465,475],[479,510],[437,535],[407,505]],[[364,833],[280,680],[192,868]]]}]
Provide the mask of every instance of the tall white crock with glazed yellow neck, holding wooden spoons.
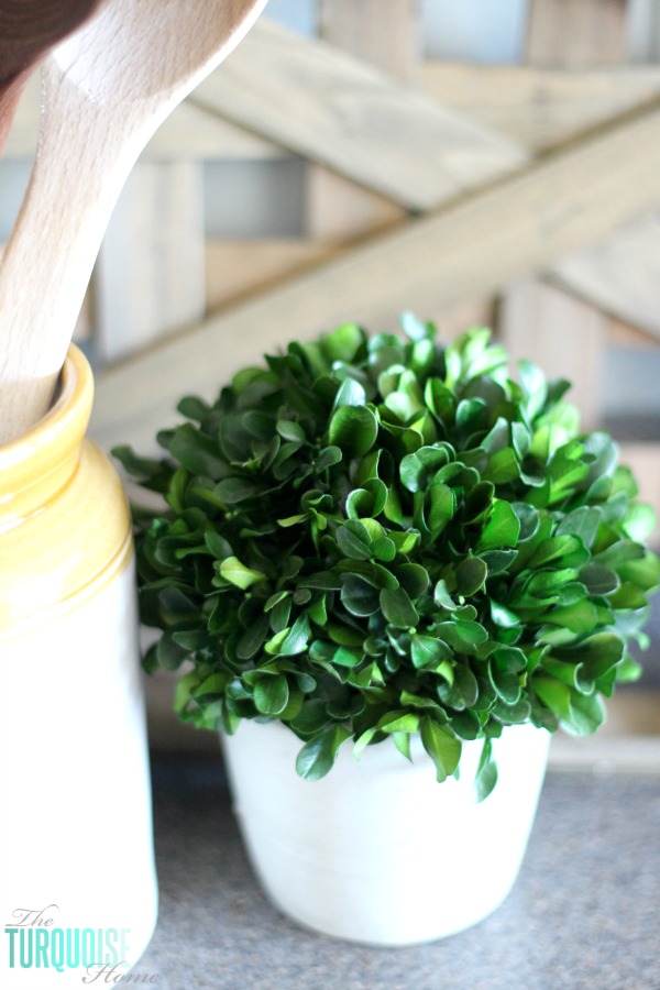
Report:
[{"label": "tall white crock with glazed yellow neck, holding wooden spoons", "polygon": [[[0,986],[125,975],[156,923],[131,520],[73,346],[0,446]],[[110,977],[112,974],[112,977]],[[106,979],[106,978],[109,979]]]}]

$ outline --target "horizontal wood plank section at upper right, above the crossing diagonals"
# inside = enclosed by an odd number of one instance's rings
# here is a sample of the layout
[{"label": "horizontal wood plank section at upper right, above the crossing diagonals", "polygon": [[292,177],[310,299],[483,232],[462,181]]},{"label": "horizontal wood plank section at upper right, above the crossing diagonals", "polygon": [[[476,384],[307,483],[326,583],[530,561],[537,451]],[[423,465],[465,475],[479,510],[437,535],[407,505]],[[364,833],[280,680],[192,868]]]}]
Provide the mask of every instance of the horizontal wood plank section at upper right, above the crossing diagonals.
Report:
[{"label": "horizontal wood plank section at upper right, above the crossing diagonals", "polygon": [[547,151],[660,94],[660,67],[562,70],[427,62],[421,87],[459,113]]}]

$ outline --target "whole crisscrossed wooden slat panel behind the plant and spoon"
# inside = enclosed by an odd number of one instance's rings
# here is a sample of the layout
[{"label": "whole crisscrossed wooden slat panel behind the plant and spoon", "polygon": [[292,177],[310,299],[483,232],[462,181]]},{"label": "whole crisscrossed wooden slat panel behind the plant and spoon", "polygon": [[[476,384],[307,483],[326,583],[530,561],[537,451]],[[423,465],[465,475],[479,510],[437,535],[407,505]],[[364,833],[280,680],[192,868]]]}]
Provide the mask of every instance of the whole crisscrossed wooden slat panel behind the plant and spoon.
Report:
[{"label": "whole crisscrossed wooden slat panel behind the plant and spoon", "polygon": [[[471,6],[465,0],[463,19]],[[266,9],[141,156],[77,328],[97,367],[92,433],[153,450],[183,393],[211,397],[294,337],[393,329],[414,309],[448,339],[488,323],[514,356],[572,377],[585,427],[629,396],[641,424],[623,458],[660,512],[660,395],[617,375],[618,355],[660,373],[657,0],[520,0],[506,65],[429,55],[416,0],[315,9],[317,37]],[[6,161],[33,154],[37,117],[34,82]],[[300,160],[297,234],[209,232],[209,163]],[[170,681],[150,691],[155,737],[179,745]]]}]

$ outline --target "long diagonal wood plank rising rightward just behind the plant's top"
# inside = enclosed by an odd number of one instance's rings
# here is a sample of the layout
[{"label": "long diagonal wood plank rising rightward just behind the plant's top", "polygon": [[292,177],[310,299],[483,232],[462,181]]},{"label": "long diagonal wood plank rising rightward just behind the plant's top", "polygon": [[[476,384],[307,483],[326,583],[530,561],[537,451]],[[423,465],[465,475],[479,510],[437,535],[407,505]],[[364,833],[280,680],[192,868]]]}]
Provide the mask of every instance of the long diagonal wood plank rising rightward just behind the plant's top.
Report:
[{"label": "long diagonal wood plank rising rightward just behind the plant's top", "polygon": [[351,319],[385,328],[403,309],[433,318],[454,301],[543,271],[653,207],[658,109],[108,370],[98,383],[95,432],[105,446],[148,443],[184,391],[215,394],[266,349]]}]

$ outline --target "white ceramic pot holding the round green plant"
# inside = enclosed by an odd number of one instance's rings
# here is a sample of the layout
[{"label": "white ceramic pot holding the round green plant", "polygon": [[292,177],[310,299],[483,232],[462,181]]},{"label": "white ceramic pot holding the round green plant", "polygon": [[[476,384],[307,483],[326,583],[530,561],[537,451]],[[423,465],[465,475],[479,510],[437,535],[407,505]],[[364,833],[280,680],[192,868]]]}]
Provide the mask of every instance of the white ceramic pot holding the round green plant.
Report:
[{"label": "white ceramic pot holding the round green plant", "polygon": [[301,743],[280,723],[243,721],[223,749],[252,866],[285,914],[323,934],[403,946],[461,932],[510,891],[544,777],[549,735],[531,726],[494,741],[499,780],[472,795],[480,741],[461,779],[436,781],[421,746],[409,763],[389,740],[355,760],[351,744],[322,780],[301,780]]}]

